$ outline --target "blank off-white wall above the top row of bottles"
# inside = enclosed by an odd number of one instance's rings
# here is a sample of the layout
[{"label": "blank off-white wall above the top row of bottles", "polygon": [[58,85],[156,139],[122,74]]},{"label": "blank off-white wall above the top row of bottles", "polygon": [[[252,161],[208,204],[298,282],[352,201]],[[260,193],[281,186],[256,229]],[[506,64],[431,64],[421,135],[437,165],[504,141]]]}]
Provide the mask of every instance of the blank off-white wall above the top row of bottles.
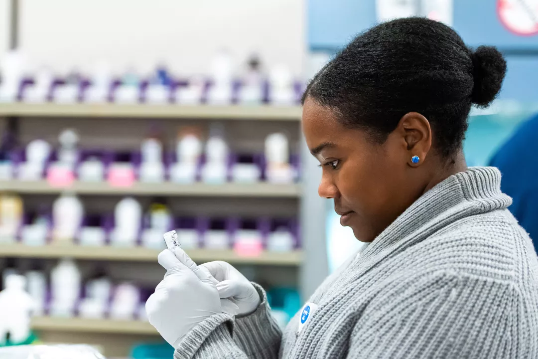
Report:
[{"label": "blank off-white wall above the top row of bottles", "polygon": [[302,71],[306,0],[19,1],[21,49],[59,72],[107,59],[118,72],[164,61],[178,74],[204,73],[223,47],[238,65],[258,52]]}]

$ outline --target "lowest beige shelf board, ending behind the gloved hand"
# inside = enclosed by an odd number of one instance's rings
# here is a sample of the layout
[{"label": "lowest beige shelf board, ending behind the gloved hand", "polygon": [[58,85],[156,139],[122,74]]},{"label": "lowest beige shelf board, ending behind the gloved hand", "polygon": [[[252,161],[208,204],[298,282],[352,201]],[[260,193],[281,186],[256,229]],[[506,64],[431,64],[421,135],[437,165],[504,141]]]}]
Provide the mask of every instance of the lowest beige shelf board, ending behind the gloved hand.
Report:
[{"label": "lowest beige shelf board, ending behind the gloved hand", "polygon": [[58,332],[159,334],[150,323],[137,320],[36,316],[32,318],[32,328],[34,330],[54,330]]}]

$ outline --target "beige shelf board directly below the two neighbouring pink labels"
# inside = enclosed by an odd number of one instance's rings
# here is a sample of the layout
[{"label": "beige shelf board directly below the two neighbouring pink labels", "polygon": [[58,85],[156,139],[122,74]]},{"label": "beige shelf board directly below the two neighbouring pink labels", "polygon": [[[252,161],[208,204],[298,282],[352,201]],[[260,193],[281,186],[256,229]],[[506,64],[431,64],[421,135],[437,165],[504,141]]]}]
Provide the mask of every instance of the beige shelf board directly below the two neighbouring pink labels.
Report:
[{"label": "beige shelf board directly below the two neighbouring pink labels", "polygon": [[70,191],[77,194],[99,195],[166,195],[166,196],[221,196],[221,197],[277,197],[299,198],[300,185],[279,185],[268,183],[208,185],[203,183],[160,184],[136,182],[130,187],[113,187],[107,182],[74,182],[69,187],[53,187],[47,181],[0,181],[0,192],[10,191],[20,194],[58,194]]}]

